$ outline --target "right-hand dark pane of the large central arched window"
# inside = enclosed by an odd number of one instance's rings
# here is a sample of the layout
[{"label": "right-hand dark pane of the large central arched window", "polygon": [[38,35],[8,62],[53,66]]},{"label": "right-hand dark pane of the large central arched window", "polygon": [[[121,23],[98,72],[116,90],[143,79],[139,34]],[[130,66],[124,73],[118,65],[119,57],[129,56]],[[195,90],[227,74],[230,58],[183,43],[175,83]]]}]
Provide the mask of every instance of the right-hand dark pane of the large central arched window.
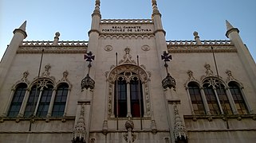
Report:
[{"label": "right-hand dark pane of the large central arched window", "polygon": [[[140,89],[139,89],[140,86]],[[137,78],[134,78],[130,81],[130,93],[131,93],[131,113],[132,117],[140,117],[140,110],[141,116],[144,114],[143,109],[143,97],[142,97],[142,85]],[[141,108],[140,108],[141,106]]]}]

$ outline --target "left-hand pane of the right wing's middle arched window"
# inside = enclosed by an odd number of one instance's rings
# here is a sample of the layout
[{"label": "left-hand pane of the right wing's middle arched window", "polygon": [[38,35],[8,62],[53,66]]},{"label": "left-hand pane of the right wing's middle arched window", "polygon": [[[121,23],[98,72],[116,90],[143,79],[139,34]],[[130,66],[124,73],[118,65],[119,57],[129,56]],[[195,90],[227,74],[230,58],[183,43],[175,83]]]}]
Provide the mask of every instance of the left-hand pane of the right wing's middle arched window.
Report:
[{"label": "left-hand pane of the right wing's middle arched window", "polygon": [[209,86],[209,84],[204,84],[203,88],[211,114],[221,114],[218,100],[212,86]]}]

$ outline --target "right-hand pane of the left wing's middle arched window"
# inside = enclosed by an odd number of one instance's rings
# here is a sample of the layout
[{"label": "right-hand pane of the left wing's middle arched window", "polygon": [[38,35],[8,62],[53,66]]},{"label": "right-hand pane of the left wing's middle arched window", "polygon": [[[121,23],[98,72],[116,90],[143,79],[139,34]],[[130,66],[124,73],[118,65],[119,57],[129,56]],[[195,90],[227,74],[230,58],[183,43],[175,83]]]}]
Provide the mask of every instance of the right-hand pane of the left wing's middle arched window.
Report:
[{"label": "right-hand pane of the left wing's middle arched window", "polygon": [[53,94],[53,86],[48,85],[48,87],[44,88],[41,93],[41,99],[37,109],[37,116],[38,117],[45,117],[48,113],[49,109],[49,102],[51,101],[51,97]]}]

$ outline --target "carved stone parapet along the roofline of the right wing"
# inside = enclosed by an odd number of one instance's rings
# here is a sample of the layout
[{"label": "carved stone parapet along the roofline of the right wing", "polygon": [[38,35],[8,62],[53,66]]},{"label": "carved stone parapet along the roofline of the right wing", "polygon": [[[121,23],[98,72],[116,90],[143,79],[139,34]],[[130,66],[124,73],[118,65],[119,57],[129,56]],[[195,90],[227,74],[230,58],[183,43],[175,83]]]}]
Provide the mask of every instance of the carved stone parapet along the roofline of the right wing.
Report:
[{"label": "carved stone parapet along the roofline of the right wing", "polygon": [[168,52],[237,52],[231,41],[167,41]]}]

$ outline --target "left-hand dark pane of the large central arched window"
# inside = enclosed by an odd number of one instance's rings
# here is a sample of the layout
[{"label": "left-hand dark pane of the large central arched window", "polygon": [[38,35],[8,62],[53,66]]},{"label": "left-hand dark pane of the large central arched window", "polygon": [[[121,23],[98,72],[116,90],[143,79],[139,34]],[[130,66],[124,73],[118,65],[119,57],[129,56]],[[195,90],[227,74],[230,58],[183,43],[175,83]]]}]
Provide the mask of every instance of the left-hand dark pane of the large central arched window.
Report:
[{"label": "left-hand dark pane of the large central arched window", "polygon": [[[117,86],[117,88],[116,88]],[[117,110],[118,110],[118,117],[126,117],[127,115],[127,83],[126,80],[123,78],[119,78],[117,81],[117,85],[115,85],[115,107],[114,107],[114,112],[115,116],[117,117]],[[118,95],[118,99],[116,99],[116,92]],[[117,101],[118,100],[118,101]],[[116,102],[117,101],[117,102]],[[117,110],[116,110],[117,107]]]}]

